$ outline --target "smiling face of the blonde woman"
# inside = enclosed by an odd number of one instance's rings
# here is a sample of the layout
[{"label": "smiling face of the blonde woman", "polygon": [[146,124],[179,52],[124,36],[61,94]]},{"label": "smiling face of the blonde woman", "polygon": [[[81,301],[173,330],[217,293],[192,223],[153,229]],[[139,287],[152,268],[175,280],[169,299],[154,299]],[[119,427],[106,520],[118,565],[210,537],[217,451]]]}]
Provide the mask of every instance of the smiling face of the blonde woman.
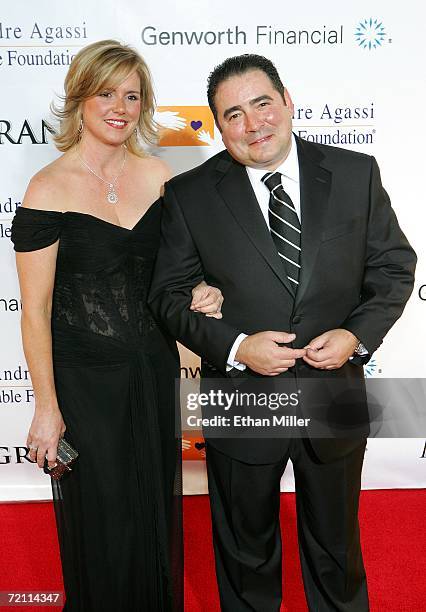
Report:
[{"label": "smiling face of the blonde woman", "polygon": [[82,138],[121,146],[136,128],[140,111],[140,78],[132,72],[114,89],[105,89],[83,103]]}]

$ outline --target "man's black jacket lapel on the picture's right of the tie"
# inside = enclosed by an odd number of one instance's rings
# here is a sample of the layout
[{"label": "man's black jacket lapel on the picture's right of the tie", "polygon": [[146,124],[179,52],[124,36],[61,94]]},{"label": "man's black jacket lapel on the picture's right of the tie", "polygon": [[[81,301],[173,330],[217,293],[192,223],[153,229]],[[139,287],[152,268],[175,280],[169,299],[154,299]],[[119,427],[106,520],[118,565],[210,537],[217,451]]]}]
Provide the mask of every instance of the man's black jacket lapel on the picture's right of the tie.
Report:
[{"label": "man's black jacket lapel on the picture's right of the tie", "polygon": [[331,172],[319,165],[322,153],[310,143],[296,138],[300,175],[300,208],[302,217],[301,271],[295,308],[303,299],[312,279],[321,234],[327,217]]}]

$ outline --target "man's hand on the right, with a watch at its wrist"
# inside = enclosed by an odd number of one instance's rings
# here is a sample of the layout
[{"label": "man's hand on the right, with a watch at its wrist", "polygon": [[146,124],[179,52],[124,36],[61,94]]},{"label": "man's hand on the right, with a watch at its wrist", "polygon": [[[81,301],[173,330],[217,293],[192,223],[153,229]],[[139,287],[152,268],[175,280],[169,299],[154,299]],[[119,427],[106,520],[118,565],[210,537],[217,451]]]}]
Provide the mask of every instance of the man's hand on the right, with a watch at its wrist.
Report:
[{"label": "man's hand on the right, with a watch at its wrist", "polygon": [[303,359],[319,370],[336,370],[353,355],[358,338],[347,329],[331,329],[317,336],[306,346]]}]

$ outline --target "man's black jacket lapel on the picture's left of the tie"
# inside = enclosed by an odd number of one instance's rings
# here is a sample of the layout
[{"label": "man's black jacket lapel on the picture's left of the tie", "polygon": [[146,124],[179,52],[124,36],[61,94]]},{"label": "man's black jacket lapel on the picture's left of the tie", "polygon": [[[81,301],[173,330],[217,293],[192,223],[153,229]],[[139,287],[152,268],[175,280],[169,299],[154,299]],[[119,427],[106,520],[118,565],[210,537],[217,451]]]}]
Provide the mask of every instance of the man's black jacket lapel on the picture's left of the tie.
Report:
[{"label": "man's black jacket lapel on the picture's left of the tie", "polygon": [[227,154],[221,157],[216,169],[220,173],[217,183],[220,196],[267,264],[293,295],[246,169]]}]

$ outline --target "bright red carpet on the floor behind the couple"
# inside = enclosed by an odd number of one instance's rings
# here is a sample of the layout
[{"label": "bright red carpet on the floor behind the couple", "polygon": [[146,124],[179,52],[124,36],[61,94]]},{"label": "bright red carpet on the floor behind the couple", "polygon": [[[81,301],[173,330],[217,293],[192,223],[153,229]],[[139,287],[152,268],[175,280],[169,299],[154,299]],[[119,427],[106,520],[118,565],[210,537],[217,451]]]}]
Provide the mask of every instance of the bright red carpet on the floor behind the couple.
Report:
[{"label": "bright red carpet on the floor behind the couple", "polygon": [[[306,612],[297,557],[294,495],[281,497],[283,610]],[[371,612],[426,610],[425,504],[424,490],[362,493],[361,535]],[[207,497],[186,497],[185,610],[190,612],[219,610],[210,536]],[[61,589],[51,504],[0,504],[0,554],[0,591]],[[2,607],[1,611],[39,609],[14,606]]]}]

